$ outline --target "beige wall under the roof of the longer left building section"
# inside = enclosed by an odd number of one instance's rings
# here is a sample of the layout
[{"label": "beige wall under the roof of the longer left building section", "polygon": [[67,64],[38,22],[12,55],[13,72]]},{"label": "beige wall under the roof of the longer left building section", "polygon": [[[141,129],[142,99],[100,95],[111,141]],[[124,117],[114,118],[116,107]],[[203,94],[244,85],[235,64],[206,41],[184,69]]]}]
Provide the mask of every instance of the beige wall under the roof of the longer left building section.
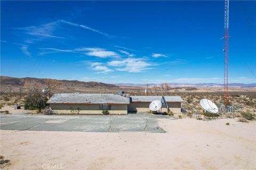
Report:
[{"label": "beige wall under the roof of the longer left building section", "polygon": [[[57,114],[102,114],[99,104],[50,104],[54,113]],[[127,114],[127,105],[111,105],[110,114]]]}]

